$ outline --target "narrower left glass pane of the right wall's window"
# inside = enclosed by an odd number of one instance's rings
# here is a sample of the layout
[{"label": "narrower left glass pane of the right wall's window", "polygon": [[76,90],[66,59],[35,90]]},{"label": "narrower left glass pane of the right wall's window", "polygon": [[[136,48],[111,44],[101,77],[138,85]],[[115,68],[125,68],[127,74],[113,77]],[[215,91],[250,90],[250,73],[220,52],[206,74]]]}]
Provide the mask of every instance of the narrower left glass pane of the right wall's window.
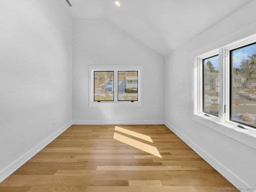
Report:
[{"label": "narrower left glass pane of the right wall's window", "polygon": [[203,60],[203,112],[218,116],[219,56]]}]

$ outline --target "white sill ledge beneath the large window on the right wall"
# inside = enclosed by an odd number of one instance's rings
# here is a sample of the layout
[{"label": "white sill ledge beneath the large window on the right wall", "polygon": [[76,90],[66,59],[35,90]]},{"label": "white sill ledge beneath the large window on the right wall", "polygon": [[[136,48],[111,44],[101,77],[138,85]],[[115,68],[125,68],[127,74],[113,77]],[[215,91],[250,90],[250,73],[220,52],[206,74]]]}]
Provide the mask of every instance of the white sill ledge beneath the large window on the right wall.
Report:
[{"label": "white sill ledge beneath the large window on the right wall", "polygon": [[232,124],[219,122],[203,114],[192,114],[192,120],[256,149],[256,130],[254,128],[238,128]]}]

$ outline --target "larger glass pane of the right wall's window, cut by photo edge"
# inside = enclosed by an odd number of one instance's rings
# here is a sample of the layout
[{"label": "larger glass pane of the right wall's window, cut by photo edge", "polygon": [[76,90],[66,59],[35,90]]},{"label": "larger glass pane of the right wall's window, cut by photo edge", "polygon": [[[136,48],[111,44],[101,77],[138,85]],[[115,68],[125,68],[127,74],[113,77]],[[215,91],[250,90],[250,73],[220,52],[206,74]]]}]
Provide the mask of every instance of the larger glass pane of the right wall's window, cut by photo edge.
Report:
[{"label": "larger glass pane of the right wall's window, cut by photo edge", "polygon": [[231,51],[230,120],[256,127],[256,44]]}]

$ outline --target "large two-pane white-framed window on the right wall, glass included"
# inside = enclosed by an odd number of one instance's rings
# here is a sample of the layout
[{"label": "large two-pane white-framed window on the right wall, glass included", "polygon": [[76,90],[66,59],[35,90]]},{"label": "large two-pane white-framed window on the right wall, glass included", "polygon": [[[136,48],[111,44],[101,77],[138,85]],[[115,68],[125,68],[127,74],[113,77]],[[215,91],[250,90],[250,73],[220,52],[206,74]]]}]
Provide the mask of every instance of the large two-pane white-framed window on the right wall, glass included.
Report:
[{"label": "large two-pane white-framed window on the right wall, glass included", "polygon": [[193,83],[194,120],[256,137],[256,35],[195,57]]}]

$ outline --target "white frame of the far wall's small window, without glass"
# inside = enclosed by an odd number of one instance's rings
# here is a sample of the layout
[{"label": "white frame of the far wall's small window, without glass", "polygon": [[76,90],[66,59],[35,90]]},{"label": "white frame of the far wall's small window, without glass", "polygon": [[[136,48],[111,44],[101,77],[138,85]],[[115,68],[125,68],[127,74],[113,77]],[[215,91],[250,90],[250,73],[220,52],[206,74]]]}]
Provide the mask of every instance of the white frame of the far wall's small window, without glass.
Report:
[{"label": "white frame of the far wall's small window, without glass", "polygon": [[[142,107],[142,65],[89,65],[89,107]],[[94,71],[114,71],[114,101],[94,101]],[[138,101],[118,101],[118,71],[138,71]]]}]

